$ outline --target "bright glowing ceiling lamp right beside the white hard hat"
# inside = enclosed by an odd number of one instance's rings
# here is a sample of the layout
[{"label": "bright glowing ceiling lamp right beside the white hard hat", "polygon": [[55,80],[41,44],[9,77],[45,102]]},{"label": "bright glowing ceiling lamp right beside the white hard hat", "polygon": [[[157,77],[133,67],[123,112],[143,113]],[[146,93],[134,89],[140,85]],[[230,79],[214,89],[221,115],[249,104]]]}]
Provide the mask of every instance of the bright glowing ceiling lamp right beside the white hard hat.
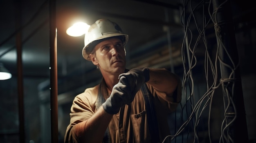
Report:
[{"label": "bright glowing ceiling lamp right beside the white hard hat", "polygon": [[84,22],[77,22],[66,30],[67,35],[78,37],[85,34],[85,31],[89,29],[90,25]]}]

